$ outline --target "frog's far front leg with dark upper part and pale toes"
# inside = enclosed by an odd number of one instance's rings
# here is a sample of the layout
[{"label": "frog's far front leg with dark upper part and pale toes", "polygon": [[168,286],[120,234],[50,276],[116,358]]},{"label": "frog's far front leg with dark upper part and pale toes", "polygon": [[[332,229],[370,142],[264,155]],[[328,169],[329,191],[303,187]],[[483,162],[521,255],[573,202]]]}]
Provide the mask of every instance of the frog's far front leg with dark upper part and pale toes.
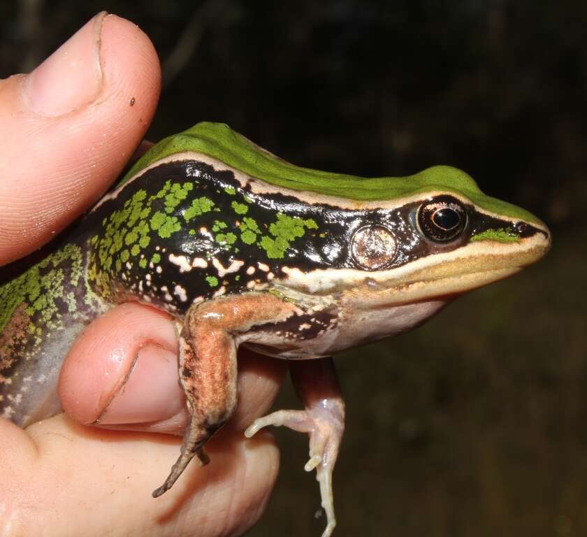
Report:
[{"label": "frog's far front leg with dark upper part and pale toes", "polygon": [[321,505],[326,513],[322,537],[330,537],[336,526],[332,473],[345,431],[345,402],[342,399],[332,358],[293,361],[291,378],[305,410],[277,410],[255,420],[247,437],[268,425],[284,426],[310,435],[310,459],[305,471],[316,468]]}]

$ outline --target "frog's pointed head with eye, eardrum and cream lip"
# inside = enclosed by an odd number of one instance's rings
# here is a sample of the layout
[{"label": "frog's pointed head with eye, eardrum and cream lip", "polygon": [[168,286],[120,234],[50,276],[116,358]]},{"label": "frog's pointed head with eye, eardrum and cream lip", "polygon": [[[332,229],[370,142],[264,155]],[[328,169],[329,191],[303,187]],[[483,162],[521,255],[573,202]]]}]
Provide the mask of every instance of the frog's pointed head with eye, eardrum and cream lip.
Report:
[{"label": "frog's pointed head with eye, eardrum and cream lip", "polygon": [[314,271],[286,267],[289,287],[342,292],[368,308],[451,298],[507,278],[551,245],[537,217],[486,196],[450,166],[357,180],[355,197],[361,189],[380,199],[331,201],[354,214],[336,241],[345,262]]}]

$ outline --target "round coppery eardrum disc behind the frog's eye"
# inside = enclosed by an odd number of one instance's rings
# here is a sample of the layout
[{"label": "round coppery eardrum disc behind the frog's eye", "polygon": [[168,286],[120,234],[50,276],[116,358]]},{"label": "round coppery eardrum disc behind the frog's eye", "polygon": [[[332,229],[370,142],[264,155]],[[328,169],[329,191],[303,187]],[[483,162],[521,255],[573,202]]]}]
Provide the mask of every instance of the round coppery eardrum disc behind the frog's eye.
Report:
[{"label": "round coppery eardrum disc behind the frog's eye", "polygon": [[391,231],[384,226],[364,226],[355,231],[351,239],[352,256],[361,268],[377,271],[393,261],[397,241]]}]

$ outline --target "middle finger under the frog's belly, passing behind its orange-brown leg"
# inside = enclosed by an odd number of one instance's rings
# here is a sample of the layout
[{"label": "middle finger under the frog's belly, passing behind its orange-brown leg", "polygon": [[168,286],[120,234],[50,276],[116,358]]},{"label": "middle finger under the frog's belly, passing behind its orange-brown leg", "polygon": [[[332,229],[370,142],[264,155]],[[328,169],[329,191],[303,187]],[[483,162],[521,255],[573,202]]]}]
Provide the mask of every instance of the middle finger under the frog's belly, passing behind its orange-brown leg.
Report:
[{"label": "middle finger under the frog's belly, passing behind its orange-brown leg", "polygon": [[[231,427],[245,429],[268,410],[285,366],[280,360],[239,354],[240,399]],[[61,368],[59,396],[66,413],[81,423],[183,434],[188,416],[177,378],[171,318],[126,303],[96,319],[75,341]]]}]

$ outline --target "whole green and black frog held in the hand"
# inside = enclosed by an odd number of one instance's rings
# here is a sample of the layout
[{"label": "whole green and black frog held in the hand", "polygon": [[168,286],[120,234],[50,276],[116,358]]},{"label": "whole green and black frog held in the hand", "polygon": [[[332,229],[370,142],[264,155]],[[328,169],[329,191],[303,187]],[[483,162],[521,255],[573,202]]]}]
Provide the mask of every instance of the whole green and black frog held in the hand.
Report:
[{"label": "whole green and black frog held in the hand", "polygon": [[[237,350],[287,359],[303,410],[245,431],[310,436],[323,537],[345,402],[333,355],[419,327],[457,296],[537,262],[551,233],[432,166],[361,178],[296,166],[226,124],[201,122],[154,145],[71,229],[0,286],[0,415],[21,427],[61,412],[57,383],[75,338],[117,304],[171,315],[189,423],[170,489],[237,402]],[[99,424],[99,423],[97,423]]]}]

